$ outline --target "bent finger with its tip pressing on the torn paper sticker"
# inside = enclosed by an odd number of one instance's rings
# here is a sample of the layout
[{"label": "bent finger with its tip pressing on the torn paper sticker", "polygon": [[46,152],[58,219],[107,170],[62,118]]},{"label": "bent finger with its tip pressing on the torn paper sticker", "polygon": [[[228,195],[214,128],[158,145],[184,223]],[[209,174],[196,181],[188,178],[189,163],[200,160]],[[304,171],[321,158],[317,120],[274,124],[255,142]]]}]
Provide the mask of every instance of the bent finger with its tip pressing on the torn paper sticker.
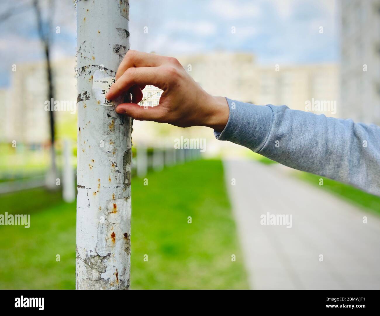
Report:
[{"label": "bent finger with its tip pressing on the torn paper sticker", "polygon": [[154,85],[165,90],[166,82],[171,81],[177,71],[173,67],[140,67],[128,68],[116,80],[106,94],[107,100],[112,100],[126,93],[133,85]]}]

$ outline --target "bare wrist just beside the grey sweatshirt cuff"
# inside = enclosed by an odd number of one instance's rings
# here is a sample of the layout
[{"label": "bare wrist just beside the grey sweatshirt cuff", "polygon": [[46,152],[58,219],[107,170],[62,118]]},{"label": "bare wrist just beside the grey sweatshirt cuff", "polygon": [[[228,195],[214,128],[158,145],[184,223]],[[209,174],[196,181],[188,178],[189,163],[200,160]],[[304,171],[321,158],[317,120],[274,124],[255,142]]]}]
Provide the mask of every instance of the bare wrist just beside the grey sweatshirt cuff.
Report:
[{"label": "bare wrist just beside the grey sweatshirt cuff", "polygon": [[210,96],[208,107],[210,114],[208,115],[205,126],[217,132],[222,132],[227,125],[230,115],[230,108],[226,98],[223,96]]}]

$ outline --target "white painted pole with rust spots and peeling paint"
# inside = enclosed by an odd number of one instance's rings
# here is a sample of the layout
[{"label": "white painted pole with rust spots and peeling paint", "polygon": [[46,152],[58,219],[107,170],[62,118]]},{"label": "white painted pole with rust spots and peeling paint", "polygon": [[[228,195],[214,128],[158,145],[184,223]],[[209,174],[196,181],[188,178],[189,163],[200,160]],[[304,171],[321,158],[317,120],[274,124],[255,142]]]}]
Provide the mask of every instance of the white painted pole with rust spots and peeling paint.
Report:
[{"label": "white painted pole with rust spots and peeling paint", "polygon": [[104,99],[105,93],[100,86],[104,81],[111,82],[106,78],[116,75],[129,49],[129,3],[128,0],[76,0],[75,4],[78,78],[76,288],[128,289],[131,119],[116,114],[115,105]]}]

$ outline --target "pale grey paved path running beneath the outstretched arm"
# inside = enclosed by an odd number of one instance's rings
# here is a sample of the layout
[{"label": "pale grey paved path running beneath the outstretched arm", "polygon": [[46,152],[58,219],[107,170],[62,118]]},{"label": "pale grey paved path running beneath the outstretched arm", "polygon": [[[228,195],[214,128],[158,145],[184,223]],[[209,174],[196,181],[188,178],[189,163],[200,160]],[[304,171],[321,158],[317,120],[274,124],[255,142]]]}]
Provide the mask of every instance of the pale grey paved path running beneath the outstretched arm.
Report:
[{"label": "pale grey paved path running beneath the outstretched arm", "polygon": [[[253,289],[380,289],[379,216],[280,166],[226,160],[224,170]],[[292,227],[261,225],[267,212],[292,215]]]}]

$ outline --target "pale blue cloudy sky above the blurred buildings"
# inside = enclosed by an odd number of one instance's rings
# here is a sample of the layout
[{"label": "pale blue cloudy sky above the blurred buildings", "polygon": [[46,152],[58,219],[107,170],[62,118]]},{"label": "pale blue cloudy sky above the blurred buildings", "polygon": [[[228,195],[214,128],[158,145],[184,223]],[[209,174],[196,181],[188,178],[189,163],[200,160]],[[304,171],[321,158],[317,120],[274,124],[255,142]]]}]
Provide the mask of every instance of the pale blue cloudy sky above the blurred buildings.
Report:
[{"label": "pale blue cloudy sky above the blurred buildings", "polygon": [[[73,57],[73,1],[52,1],[52,58]],[[31,0],[2,2],[0,16],[11,13],[0,21],[0,87],[6,87],[13,64],[43,54]],[[263,65],[339,62],[339,27],[338,0],[130,0],[131,49],[174,57],[225,50],[250,52]]]}]

